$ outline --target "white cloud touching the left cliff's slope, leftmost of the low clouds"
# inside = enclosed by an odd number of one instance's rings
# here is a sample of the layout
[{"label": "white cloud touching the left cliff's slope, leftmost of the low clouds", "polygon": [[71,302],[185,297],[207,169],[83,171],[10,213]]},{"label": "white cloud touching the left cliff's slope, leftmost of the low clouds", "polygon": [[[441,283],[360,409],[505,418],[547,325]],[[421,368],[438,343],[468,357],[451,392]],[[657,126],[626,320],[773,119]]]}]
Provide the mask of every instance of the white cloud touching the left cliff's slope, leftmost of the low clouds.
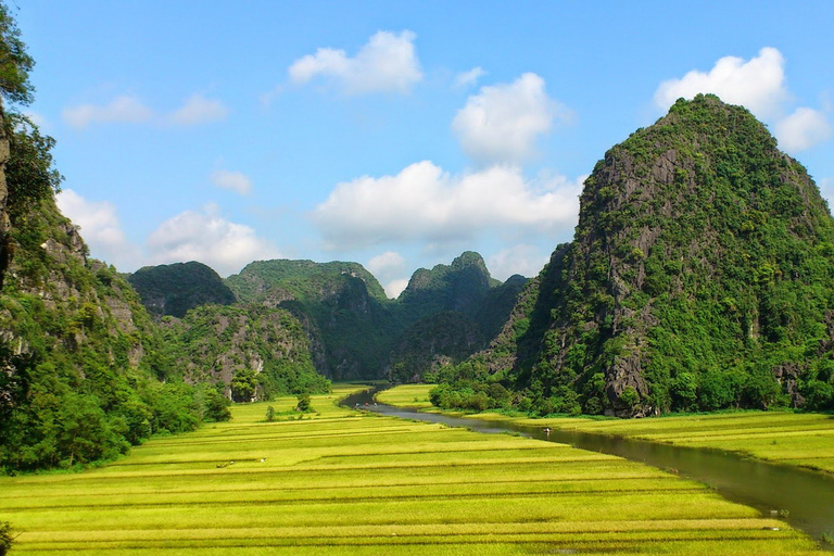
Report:
[{"label": "white cloud touching the left cliff's slope, leftmost of the low clouds", "polygon": [[116,266],[130,265],[138,256],[138,249],[125,238],[112,203],[87,201],[72,189],[58,193],[55,202],[61,213],[80,227],[81,237],[96,256]]}]

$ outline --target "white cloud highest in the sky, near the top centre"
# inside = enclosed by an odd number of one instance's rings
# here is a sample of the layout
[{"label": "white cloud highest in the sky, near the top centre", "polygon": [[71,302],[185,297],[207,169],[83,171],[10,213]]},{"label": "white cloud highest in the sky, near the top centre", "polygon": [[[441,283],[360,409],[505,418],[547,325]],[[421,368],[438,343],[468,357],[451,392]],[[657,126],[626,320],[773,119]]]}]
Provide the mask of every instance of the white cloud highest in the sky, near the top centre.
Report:
[{"label": "white cloud highest in the sky, near the top centre", "polygon": [[399,35],[380,30],[354,58],[344,50],[320,48],[290,66],[290,80],[303,85],[317,76],[330,77],[349,94],[408,92],[422,79],[415,38],[409,30]]}]

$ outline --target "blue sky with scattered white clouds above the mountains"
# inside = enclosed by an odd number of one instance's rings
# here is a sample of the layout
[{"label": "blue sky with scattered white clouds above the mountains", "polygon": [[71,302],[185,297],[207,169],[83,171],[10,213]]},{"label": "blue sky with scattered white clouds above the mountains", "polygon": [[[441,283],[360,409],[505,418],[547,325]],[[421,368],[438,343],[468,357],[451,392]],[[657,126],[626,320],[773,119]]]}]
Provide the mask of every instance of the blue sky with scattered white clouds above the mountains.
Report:
[{"label": "blue sky with scattered white clouds above the mountains", "polygon": [[477,251],[536,275],[606,150],[680,97],[753,112],[834,199],[834,2],[5,0],[61,211],[135,271]]}]

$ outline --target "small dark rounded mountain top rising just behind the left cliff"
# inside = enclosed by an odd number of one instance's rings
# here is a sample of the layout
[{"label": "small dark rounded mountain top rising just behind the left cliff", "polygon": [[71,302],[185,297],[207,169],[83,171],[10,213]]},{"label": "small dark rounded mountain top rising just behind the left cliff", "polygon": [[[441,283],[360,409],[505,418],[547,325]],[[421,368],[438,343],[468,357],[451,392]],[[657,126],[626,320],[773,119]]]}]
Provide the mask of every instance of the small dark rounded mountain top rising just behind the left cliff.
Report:
[{"label": "small dark rounded mountain top rising just behind the left cliff", "polygon": [[178,318],[200,305],[231,305],[235,294],[212,268],[202,263],[146,266],[127,277],[151,315]]}]

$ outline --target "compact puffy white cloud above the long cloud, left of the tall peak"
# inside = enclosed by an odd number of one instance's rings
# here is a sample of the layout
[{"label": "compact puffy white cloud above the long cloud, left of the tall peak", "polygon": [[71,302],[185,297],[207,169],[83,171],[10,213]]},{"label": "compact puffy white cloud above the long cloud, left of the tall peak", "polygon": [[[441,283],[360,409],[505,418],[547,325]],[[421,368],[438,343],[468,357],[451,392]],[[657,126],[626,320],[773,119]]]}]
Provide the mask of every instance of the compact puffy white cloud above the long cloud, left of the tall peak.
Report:
[{"label": "compact puffy white cloud above the long cloud, left of the tall peak", "polygon": [[544,79],[527,73],[511,84],[481,87],[452,122],[469,156],[479,162],[518,163],[533,155],[535,140],[569,112],[547,97]]}]

